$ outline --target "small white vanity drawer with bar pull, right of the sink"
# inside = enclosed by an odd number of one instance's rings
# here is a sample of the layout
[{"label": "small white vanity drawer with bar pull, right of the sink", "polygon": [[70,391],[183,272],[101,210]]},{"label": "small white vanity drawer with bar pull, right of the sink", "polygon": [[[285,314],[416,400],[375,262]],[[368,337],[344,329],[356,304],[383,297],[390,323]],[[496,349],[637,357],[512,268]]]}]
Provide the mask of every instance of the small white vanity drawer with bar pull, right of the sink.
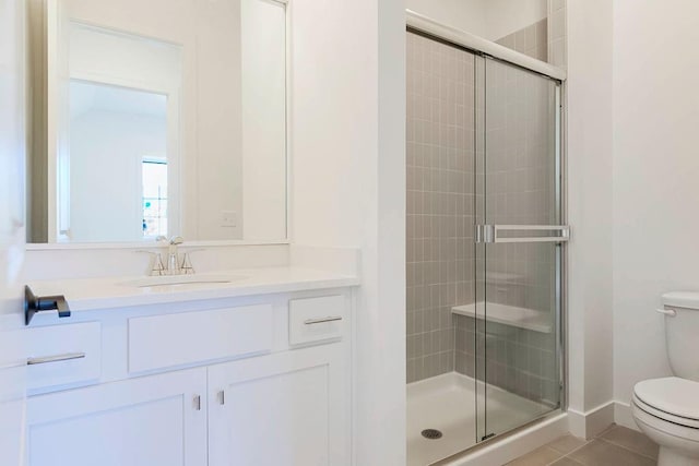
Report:
[{"label": "small white vanity drawer with bar pull, right of the sink", "polygon": [[289,300],[289,344],[304,345],[342,338],[346,325],[345,307],[342,295]]}]

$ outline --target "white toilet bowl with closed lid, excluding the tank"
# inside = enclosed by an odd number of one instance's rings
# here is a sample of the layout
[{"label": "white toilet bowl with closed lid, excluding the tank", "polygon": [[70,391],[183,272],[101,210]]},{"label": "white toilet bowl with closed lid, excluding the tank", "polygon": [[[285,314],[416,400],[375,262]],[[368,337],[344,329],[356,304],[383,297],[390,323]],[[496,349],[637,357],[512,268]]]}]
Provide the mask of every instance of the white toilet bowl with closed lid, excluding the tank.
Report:
[{"label": "white toilet bowl with closed lid, excluding the tank", "polygon": [[631,413],[645,435],[660,445],[657,464],[699,465],[699,383],[652,379],[633,387]]}]

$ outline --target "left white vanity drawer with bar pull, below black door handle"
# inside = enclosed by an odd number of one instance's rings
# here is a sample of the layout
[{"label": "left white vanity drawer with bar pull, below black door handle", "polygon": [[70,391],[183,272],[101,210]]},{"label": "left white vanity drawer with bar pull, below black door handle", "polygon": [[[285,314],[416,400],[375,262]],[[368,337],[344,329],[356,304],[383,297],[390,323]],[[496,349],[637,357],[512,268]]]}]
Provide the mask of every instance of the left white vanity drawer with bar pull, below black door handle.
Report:
[{"label": "left white vanity drawer with bar pull, below black door handle", "polygon": [[29,390],[98,380],[102,374],[102,324],[51,325],[27,330]]}]

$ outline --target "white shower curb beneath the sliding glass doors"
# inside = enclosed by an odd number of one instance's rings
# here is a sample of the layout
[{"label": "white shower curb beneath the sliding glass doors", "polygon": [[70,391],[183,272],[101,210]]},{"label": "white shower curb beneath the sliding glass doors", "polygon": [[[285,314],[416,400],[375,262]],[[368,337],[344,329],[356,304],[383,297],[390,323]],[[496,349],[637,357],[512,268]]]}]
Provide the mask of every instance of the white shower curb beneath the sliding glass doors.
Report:
[{"label": "white shower curb beneath the sliding glass doors", "polygon": [[442,466],[490,466],[509,463],[568,433],[568,414],[560,413],[498,441],[476,446],[459,458],[437,463]]}]

